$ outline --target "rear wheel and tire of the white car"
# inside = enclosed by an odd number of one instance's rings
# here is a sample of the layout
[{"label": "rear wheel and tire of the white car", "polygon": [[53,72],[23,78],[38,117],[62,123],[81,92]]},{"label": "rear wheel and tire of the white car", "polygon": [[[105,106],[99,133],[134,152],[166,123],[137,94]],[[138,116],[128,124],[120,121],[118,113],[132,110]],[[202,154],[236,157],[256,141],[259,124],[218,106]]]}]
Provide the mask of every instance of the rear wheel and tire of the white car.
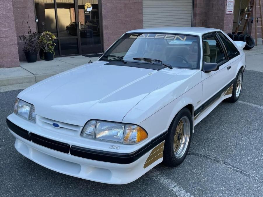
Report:
[{"label": "rear wheel and tire of the white car", "polygon": [[243,82],[243,70],[241,68],[237,73],[236,79],[234,81],[232,96],[227,98],[226,101],[234,103],[239,99],[241,88],[242,88],[242,82]]}]

